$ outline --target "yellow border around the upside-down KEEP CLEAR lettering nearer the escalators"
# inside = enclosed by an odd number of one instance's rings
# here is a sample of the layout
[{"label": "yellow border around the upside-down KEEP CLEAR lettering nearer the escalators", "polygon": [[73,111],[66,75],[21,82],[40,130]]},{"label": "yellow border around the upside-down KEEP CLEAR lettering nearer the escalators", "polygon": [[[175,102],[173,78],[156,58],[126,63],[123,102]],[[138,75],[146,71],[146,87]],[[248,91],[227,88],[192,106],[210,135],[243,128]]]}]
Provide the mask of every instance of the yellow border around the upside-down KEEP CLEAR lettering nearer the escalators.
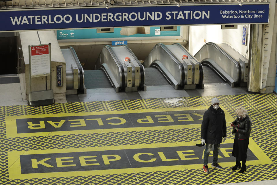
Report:
[{"label": "yellow border around the upside-down KEEP CLEAR lettering nearer the escalators", "polygon": [[[130,113],[147,113],[147,112],[168,112],[168,111],[186,111],[186,110],[207,110],[209,106],[197,107],[179,107],[179,108],[160,108],[160,109],[142,109],[142,110],[118,110],[118,111],[101,111],[101,112],[79,112],[79,113],[58,113],[58,114],[37,114],[37,115],[22,115],[22,116],[6,116],[6,134],[7,137],[30,137],[30,136],[52,136],[52,135],[67,135],[67,134],[87,134],[87,133],[106,133],[106,132],[130,132],[143,130],[158,130],[158,129],[181,129],[181,128],[200,128],[200,124],[188,125],[168,125],[168,126],[154,126],[154,127],[129,127],[129,128],[112,128],[112,129],[83,129],[83,130],[68,130],[55,132],[32,132],[32,133],[17,133],[16,119],[30,119],[30,118],[50,118],[63,116],[90,116],[90,115],[109,115],[109,114],[130,114]],[[234,121],[233,117],[224,110],[227,126]]]}]

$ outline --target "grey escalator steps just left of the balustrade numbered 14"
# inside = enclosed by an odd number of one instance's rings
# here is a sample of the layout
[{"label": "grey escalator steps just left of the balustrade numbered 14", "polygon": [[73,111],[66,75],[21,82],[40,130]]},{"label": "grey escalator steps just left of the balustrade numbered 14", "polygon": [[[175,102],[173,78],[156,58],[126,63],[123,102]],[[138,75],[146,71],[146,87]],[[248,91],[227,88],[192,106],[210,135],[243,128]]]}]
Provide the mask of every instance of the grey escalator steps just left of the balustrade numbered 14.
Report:
[{"label": "grey escalator steps just left of the balustrade numbered 14", "polygon": [[85,86],[87,89],[111,88],[111,83],[102,70],[85,70]]}]

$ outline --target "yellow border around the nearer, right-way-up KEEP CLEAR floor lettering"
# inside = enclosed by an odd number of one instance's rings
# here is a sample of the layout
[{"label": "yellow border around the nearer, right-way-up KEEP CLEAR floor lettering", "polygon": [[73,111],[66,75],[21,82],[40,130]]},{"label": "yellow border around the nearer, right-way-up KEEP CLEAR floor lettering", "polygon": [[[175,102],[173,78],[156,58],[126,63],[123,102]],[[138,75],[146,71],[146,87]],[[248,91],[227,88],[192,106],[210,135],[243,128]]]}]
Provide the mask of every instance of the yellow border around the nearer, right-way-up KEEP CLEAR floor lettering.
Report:
[{"label": "yellow border around the nearer, right-way-up KEEP CLEAR floor lettering", "polygon": [[[22,174],[19,157],[20,155],[30,154],[53,154],[53,153],[72,153],[72,152],[88,152],[88,151],[113,151],[123,149],[147,149],[160,147],[180,147],[180,146],[194,146],[199,142],[180,142],[180,143],[158,143],[145,145],[119,145],[107,147],[87,147],[87,148],[72,148],[72,149],[49,149],[49,150],[30,150],[30,151],[9,151],[8,165],[10,179],[32,179],[32,178],[46,178],[46,177],[69,177],[69,176],[85,176],[85,175],[106,175],[106,174],[120,174],[120,173],[141,173],[151,171],[171,171],[171,170],[185,170],[185,169],[201,169],[203,164],[188,164],[188,165],[174,165],[174,166],[154,166],[143,168],[127,168],[127,169],[107,169],[107,170],[90,170],[90,171],[66,171],[66,172],[51,172],[51,173],[30,173]],[[222,144],[233,143],[232,139],[226,140]],[[257,164],[272,164],[272,160],[261,150],[261,148],[250,138],[249,149],[254,153],[258,160],[247,161],[247,165]],[[220,159],[219,159],[220,160]],[[210,165],[210,164],[209,164]],[[234,162],[220,162],[223,167],[234,165]]]}]

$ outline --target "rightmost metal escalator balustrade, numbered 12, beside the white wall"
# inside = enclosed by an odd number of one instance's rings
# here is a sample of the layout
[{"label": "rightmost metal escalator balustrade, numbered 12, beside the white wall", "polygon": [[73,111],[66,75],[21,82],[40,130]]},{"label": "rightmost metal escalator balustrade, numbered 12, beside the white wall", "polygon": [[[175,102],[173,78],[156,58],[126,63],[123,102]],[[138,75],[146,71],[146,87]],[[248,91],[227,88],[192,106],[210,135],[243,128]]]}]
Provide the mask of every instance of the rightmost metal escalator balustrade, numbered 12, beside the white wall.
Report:
[{"label": "rightmost metal escalator balustrade, numbered 12, beside the white wall", "polygon": [[[214,83],[210,70],[214,71],[221,80],[231,87],[243,87],[248,81],[248,60],[231,46],[213,42],[206,43],[194,56],[204,66],[204,82]],[[208,68],[207,68],[208,67]]]}]

